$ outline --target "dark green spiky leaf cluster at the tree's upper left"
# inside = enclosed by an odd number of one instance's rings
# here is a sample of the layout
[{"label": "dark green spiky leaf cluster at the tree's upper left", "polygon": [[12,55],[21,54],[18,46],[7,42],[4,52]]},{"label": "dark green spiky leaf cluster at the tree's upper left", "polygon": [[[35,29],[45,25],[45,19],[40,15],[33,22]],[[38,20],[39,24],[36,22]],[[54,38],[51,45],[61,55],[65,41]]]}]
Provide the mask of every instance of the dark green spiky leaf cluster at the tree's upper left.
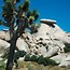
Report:
[{"label": "dark green spiky leaf cluster at the tree's upper left", "polygon": [[3,17],[5,22],[11,20],[12,16],[13,16],[13,6],[10,2],[6,2],[3,5]]}]

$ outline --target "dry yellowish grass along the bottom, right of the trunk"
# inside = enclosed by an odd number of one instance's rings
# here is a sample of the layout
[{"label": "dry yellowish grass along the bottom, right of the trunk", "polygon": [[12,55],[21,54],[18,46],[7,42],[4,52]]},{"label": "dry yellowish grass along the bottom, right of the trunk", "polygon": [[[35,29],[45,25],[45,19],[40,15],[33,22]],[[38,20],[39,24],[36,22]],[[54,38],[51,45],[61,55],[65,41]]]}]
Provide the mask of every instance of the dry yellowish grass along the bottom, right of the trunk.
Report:
[{"label": "dry yellowish grass along the bottom, right of the trunk", "polygon": [[68,68],[60,68],[58,66],[43,66],[43,65],[38,65],[37,62],[26,62],[26,61],[18,61],[20,69],[15,69],[13,70],[70,70]]}]

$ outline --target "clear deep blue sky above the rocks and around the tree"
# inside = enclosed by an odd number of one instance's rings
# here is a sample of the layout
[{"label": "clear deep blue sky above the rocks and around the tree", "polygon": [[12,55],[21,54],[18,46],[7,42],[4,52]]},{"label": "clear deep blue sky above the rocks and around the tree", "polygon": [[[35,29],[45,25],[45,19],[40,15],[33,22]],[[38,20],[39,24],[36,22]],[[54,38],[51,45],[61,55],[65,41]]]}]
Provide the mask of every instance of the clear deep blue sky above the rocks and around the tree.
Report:
[{"label": "clear deep blue sky above the rocks and around the tree", "polygon": [[[0,14],[2,4],[3,0],[0,1]],[[39,19],[55,19],[60,28],[70,32],[70,0],[30,0],[30,9],[40,12]]]}]

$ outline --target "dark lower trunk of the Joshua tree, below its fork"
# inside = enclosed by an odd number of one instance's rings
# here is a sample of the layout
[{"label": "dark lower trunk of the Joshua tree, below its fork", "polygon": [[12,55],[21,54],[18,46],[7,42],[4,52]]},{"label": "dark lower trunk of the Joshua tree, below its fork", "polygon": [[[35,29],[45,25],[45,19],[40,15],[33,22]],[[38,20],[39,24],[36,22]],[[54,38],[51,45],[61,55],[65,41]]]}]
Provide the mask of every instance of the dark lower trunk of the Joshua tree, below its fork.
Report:
[{"label": "dark lower trunk of the Joshua tree, below its fork", "polygon": [[14,52],[16,47],[16,41],[17,41],[16,36],[13,36],[13,38],[10,41],[11,46],[10,46],[10,53],[9,53],[9,58],[8,58],[5,70],[12,70],[13,68],[13,59],[14,59]]}]

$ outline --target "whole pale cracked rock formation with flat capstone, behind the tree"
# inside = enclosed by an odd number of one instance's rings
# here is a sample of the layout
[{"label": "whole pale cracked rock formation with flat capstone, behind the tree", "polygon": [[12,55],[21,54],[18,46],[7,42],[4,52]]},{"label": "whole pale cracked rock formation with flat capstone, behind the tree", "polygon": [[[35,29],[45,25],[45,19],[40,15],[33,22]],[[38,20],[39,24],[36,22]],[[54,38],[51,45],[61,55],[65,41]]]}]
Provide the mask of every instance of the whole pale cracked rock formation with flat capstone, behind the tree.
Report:
[{"label": "whole pale cracked rock formation with flat capstone, behind the tree", "polygon": [[[16,46],[19,51],[26,51],[30,55],[43,55],[51,57],[59,66],[69,66],[69,53],[65,53],[64,47],[70,46],[70,33],[65,32],[56,24],[56,20],[41,19],[41,26],[37,33],[25,32],[18,38]],[[0,51],[10,46],[8,41],[10,33],[8,30],[0,31]],[[3,44],[4,43],[4,44]],[[1,54],[1,52],[0,52]],[[67,62],[64,64],[64,62]]]}]

